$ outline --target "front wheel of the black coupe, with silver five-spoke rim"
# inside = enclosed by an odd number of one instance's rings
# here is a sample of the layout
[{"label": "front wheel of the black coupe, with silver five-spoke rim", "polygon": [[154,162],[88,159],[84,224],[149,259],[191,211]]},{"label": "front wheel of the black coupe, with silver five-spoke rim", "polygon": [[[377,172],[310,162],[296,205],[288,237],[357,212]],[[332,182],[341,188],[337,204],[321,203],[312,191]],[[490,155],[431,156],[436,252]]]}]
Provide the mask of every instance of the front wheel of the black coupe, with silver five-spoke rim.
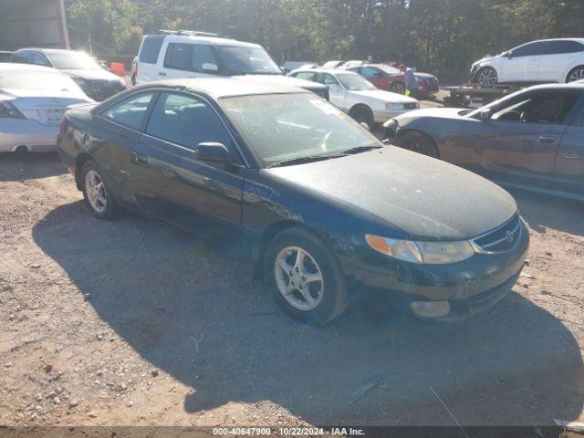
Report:
[{"label": "front wheel of the black coupe, with silver five-spoke rim", "polygon": [[347,308],[347,286],[326,245],[294,227],[276,235],[266,250],[272,296],[291,318],[320,325]]}]

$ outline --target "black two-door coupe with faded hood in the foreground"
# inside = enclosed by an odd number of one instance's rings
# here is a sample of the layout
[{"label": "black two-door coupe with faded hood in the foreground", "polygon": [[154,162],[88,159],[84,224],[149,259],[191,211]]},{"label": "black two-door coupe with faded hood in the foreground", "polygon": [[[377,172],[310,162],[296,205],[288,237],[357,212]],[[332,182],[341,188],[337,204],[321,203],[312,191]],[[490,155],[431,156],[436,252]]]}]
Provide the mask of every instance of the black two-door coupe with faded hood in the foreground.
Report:
[{"label": "black two-door coupe with faded hood in the foreground", "polygon": [[68,110],[58,150],[96,217],[132,208],[238,248],[310,323],[337,317],[353,285],[420,318],[463,318],[504,297],[525,261],[503,189],[385,146],[303,89],[154,82]]}]

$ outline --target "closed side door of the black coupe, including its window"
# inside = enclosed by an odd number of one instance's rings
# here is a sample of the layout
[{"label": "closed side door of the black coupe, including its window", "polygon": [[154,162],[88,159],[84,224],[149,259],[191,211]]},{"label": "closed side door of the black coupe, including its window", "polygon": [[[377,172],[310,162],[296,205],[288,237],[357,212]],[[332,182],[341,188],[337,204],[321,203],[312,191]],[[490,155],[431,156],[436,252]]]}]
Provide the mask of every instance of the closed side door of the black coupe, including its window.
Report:
[{"label": "closed side door of the black coupe, including its window", "polygon": [[[224,144],[234,162],[198,159],[195,148],[202,142]],[[224,121],[207,100],[162,93],[133,151],[132,191],[142,208],[220,244],[237,241],[245,167]]]}]

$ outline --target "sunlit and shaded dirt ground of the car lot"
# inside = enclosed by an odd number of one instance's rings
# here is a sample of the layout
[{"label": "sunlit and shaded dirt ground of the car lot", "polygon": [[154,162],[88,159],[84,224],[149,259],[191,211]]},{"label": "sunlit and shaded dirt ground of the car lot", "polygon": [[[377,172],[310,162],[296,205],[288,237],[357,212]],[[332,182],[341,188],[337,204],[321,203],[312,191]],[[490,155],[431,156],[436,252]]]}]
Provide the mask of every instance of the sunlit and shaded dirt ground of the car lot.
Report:
[{"label": "sunlit and shaded dirt ground of the car lot", "polygon": [[310,328],[232,255],[94,219],[56,154],[0,155],[0,424],[582,422],[584,204],[513,194],[529,262],[495,308],[424,325],[357,303]]}]

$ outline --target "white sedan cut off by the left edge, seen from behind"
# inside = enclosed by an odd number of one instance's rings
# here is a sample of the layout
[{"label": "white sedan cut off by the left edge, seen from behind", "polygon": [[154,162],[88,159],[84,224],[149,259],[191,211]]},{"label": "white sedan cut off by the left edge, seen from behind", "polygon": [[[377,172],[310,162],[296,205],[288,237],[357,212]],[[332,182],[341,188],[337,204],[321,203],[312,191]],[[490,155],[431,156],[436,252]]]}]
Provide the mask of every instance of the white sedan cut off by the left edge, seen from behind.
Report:
[{"label": "white sedan cut off by the left edge, seen from behind", "polygon": [[0,152],[57,151],[69,105],[93,102],[55,68],[0,64]]}]

